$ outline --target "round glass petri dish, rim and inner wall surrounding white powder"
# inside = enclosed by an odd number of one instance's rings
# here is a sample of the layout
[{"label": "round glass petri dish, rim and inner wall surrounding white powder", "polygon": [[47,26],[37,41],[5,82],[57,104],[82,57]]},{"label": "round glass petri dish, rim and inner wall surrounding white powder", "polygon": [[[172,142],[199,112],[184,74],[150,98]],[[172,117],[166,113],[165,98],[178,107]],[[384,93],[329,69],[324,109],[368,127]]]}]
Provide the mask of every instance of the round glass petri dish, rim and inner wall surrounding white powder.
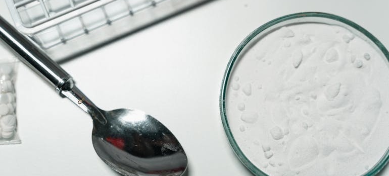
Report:
[{"label": "round glass petri dish, rim and inner wall surrounding white powder", "polygon": [[[318,13],[318,12],[305,12],[305,13],[297,13],[286,15],[277,19],[274,19],[256,30],[254,30],[251,34],[249,34],[235,49],[233,52],[224,73],[221,92],[220,92],[220,115],[223,123],[223,127],[227,138],[229,140],[230,146],[232,147],[234,153],[238,157],[238,159],[255,175],[258,176],[273,176],[265,173],[264,170],[256,166],[253,162],[252,154],[246,154],[244,150],[242,150],[242,143],[239,143],[236,140],[236,133],[232,128],[238,129],[238,125],[235,122],[231,122],[231,118],[228,116],[228,87],[232,86],[231,82],[233,79],[238,79],[236,77],[232,77],[235,66],[241,61],[243,55],[245,55],[248,51],[250,51],[251,47],[254,46],[257,42],[263,39],[266,35],[272,33],[273,31],[280,29],[283,26],[294,25],[294,24],[304,24],[304,23],[319,23],[319,24],[327,24],[327,25],[335,25],[343,27],[349,30],[351,33],[360,37],[362,40],[366,41],[371,47],[373,47],[381,56],[384,58],[384,62],[386,65],[389,65],[389,53],[386,48],[375,38],[372,34],[370,34],[367,30],[357,25],[356,23],[347,20],[345,18],[326,14],[326,13]],[[250,68],[248,68],[250,69]],[[260,87],[259,87],[260,88]],[[236,131],[236,130],[235,130]],[[260,146],[259,146],[260,147]],[[382,152],[382,155],[379,160],[373,165],[366,168],[366,171],[359,175],[372,176],[376,175],[388,162],[389,160],[389,146],[386,147],[385,152]],[[258,165],[258,164],[257,164]],[[297,173],[298,174],[298,173]]]}]

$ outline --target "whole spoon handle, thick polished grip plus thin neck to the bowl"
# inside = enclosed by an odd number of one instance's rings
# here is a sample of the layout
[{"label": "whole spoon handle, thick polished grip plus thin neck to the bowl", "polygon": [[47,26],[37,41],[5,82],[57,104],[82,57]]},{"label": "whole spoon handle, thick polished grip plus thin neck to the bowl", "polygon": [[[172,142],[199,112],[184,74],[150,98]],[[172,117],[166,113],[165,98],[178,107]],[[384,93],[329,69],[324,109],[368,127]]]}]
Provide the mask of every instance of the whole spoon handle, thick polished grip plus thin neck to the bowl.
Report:
[{"label": "whole spoon handle, thick polished grip plus thin neck to the bowl", "polygon": [[1,16],[0,39],[5,42],[5,46],[10,47],[11,51],[20,55],[18,58],[24,64],[45,79],[48,84],[55,87],[61,97],[67,97],[83,111],[90,114],[93,120],[98,120],[102,124],[107,123],[101,110],[74,85],[72,76]]}]

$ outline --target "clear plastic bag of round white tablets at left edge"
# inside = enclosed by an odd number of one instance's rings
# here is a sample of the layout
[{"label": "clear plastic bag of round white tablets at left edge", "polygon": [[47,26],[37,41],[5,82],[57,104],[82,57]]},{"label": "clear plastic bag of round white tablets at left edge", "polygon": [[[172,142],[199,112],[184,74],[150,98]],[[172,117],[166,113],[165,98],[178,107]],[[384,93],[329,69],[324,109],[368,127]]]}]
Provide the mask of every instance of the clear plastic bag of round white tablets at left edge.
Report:
[{"label": "clear plastic bag of round white tablets at left edge", "polygon": [[18,59],[0,42],[0,144],[21,143],[15,91],[18,64]]}]

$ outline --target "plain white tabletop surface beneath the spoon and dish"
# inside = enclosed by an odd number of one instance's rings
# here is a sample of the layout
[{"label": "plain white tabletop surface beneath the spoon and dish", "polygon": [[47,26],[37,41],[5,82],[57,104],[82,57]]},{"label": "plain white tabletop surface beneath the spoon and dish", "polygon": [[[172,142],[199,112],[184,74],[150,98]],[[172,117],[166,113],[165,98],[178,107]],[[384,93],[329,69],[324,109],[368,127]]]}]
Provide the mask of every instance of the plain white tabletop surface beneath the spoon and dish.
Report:
[{"label": "plain white tabletop surface beneath the spoon and dish", "polygon": [[[262,24],[306,11],[343,16],[389,46],[387,7],[386,0],[217,0],[62,66],[99,107],[141,109],[164,123],[187,153],[187,175],[251,175],[232,152],[219,114],[222,76],[235,47]],[[8,15],[4,1],[0,14]],[[117,175],[93,150],[88,115],[24,65],[17,94],[23,143],[0,146],[1,175]]]}]

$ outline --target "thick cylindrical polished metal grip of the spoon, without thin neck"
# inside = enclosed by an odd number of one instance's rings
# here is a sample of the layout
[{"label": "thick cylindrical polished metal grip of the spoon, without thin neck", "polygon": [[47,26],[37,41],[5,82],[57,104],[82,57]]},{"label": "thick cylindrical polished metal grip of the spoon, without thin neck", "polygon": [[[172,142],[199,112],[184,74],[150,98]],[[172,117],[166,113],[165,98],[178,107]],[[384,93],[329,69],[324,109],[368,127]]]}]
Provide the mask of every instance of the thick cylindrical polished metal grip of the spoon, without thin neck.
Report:
[{"label": "thick cylindrical polished metal grip of the spoon, without thin neck", "polygon": [[62,91],[71,90],[74,86],[73,78],[69,73],[1,16],[0,39],[6,43],[6,46],[8,45],[11,48],[11,51],[20,55],[18,58],[24,64],[43,77],[51,86],[55,87],[61,96],[63,96],[61,94]]}]

